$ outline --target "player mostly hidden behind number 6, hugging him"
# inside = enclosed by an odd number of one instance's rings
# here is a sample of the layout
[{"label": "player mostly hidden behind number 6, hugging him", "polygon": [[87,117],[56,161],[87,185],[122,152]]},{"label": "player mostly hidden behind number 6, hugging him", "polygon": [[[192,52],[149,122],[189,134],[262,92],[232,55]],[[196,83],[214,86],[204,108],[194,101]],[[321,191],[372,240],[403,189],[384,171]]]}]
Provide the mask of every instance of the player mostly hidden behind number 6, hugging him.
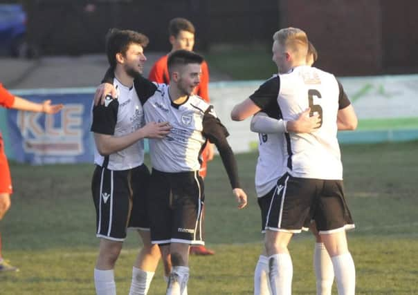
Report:
[{"label": "player mostly hidden behind number 6, hugging him", "polygon": [[[312,66],[318,59],[316,48],[309,42],[309,49],[307,54],[307,65]],[[279,73],[280,73],[280,69]],[[264,93],[260,93],[264,95]],[[256,113],[251,120],[251,131],[259,133],[259,158],[257,160],[256,174],[255,174],[255,189],[257,191],[258,202],[262,210],[262,230],[266,225],[266,216],[269,211],[270,201],[273,196],[276,183],[273,184],[273,178],[276,180],[280,178],[286,171],[286,163],[284,158],[284,136],[282,133],[288,131],[298,133],[310,133],[315,131],[319,126],[320,121],[318,114],[309,117],[310,108],[303,112],[296,122],[285,122],[282,120],[281,113],[277,100],[269,104],[269,106]],[[280,134],[278,134],[280,133]],[[278,164],[282,166],[278,167]],[[268,189],[272,190],[266,193]],[[267,190],[266,190],[267,189]],[[314,220],[307,220],[309,229],[316,238],[314,247],[314,269],[316,276],[316,294],[317,295],[331,295],[332,284],[334,281],[334,268],[329,257],[327,249],[318,234],[316,223]],[[265,250],[264,250],[265,252]],[[254,294],[271,294],[269,291],[269,263],[266,253],[263,253],[255,267],[254,274]]]}]

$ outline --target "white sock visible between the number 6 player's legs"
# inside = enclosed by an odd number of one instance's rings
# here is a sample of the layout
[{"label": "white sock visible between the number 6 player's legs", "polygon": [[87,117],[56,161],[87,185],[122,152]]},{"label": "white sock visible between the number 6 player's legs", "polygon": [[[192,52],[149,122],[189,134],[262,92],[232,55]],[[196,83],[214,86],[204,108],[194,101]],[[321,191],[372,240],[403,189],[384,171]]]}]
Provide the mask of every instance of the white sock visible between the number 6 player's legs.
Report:
[{"label": "white sock visible between the number 6 player's legs", "polygon": [[315,243],[314,269],[316,276],[316,294],[331,295],[334,282],[334,267],[331,257],[322,242]]}]

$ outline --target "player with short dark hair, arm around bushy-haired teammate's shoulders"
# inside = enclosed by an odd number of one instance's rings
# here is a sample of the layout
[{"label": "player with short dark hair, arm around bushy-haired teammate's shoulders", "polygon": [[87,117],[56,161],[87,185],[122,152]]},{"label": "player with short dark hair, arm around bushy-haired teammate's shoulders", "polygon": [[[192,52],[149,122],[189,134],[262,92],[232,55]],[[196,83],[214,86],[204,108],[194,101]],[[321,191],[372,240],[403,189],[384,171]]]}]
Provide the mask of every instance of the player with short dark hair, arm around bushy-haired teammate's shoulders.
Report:
[{"label": "player with short dark hair, arm around bushy-haired teammate's shoulders", "polygon": [[[217,146],[239,209],[246,206],[246,193],[240,189],[237,164],[226,140],[228,131],[213,106],[192,94],[200,82],[202,62],[203,57],[196,53],[176,50],[167,60],[170,86],[154,84],[143,77],[135,80],[145,122],[167,121],[172,126],[164,140],[149,142],[153,166],[148,198],[151,237],[163,256],[171,255],[167,295],[185,294],[189,247],[204,245],[204,189],[199,161],[208,140]],[[105,80],[109,75],[108,72]],[[103,90],[109,91],[109,87]]]}]

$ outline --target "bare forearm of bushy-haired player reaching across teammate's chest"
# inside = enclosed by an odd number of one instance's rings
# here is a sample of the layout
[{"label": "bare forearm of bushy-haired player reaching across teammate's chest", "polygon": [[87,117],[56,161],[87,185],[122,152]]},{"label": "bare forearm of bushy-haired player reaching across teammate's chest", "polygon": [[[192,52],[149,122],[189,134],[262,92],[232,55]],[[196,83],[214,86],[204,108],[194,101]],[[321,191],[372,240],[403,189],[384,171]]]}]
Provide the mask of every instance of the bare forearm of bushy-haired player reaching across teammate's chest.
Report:
[{"label": "bare forearm of bushy-haired player reaching across teammate's chest", "polygon": [[143,128],[123,136],[94,133],[94,141],[100,155],[110,155],[122,151],[143,138],[163,138],[172,127],[168,122],[149,122]]}]

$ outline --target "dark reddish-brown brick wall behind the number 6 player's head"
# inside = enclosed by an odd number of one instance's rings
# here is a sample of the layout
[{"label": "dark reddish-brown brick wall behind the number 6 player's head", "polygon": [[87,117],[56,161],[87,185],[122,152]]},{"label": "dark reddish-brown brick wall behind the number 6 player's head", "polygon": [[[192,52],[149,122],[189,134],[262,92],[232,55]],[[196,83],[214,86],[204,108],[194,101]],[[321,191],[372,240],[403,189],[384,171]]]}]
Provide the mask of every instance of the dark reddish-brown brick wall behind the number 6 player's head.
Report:
[{"label": "dark reddish-brown brick wall behind the number 6 player's head", "polygon": [[379,0],[281,1],[281,27],[307,32],[318,50],[316,66],[336,75],[380,73],[381,6]]}]

